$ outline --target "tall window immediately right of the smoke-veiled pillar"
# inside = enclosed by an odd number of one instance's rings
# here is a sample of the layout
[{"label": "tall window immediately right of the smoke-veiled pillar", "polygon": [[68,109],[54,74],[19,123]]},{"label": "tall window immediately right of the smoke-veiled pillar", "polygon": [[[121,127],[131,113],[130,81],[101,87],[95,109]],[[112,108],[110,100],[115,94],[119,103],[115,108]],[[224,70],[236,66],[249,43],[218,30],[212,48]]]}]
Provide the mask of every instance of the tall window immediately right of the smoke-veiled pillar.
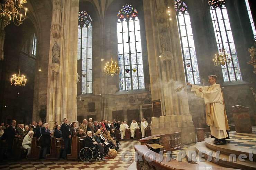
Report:
[{"label": "tall window immediately right of the smoke-veiled pillar", "polygon": [[188,7],[181,0],[174,0],[174,7],[179,26],[186,80],[193,84],[200,84],[199,69]]}]

